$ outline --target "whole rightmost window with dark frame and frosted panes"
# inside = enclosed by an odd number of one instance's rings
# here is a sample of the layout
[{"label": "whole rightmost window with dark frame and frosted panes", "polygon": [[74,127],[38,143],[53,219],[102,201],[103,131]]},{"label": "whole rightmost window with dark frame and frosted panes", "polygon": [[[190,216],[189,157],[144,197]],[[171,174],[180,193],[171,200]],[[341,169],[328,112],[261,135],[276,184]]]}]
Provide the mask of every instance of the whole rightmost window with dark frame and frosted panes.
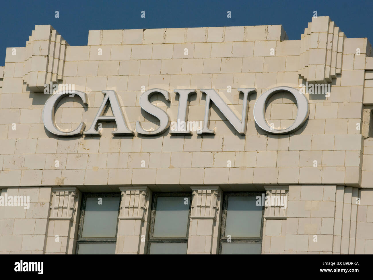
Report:
[{"label": "whole rightmost window with dark frame and frosted panes", "polygon": [[262,193],[224,193],[220,254],[260,254],[264,205]]}]

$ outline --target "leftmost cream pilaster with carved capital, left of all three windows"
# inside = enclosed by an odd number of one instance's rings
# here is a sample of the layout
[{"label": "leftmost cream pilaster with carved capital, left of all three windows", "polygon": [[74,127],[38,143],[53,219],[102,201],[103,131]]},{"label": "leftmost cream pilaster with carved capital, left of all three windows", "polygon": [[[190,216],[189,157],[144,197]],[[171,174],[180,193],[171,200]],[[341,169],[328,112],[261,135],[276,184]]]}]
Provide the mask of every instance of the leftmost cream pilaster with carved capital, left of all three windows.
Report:
[{"label": "leftmost cream pilaster with carved capital, left of all three windows", "polygon": [[76,187],[52,188],[46,253],[75,252],[80,213],[80,191]]}]

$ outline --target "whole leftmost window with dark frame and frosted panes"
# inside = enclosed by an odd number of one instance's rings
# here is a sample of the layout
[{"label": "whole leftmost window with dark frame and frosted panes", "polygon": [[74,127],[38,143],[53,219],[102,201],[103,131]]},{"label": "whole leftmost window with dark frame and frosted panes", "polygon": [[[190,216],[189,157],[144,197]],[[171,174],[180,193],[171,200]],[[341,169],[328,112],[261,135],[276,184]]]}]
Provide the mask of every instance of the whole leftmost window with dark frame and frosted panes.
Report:
[{"label": "whole leftmost window with dark frame and frosted panes", "polygon": [[77,254],[115,254],[120,194],[83,194]]}]

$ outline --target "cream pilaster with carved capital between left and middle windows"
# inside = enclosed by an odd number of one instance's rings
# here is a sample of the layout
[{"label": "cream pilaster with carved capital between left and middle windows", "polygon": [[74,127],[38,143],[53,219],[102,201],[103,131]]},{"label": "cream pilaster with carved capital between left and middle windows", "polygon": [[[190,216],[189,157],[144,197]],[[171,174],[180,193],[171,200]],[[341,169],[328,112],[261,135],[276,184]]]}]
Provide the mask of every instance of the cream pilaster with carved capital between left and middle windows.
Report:
[{"label": "cream pilaster with carved capital between left and middle windows", "polygon": [[122,192],[117,233],[117,254],[144,254],[150,223],[151,190],[146,186],[119,187]]}]

